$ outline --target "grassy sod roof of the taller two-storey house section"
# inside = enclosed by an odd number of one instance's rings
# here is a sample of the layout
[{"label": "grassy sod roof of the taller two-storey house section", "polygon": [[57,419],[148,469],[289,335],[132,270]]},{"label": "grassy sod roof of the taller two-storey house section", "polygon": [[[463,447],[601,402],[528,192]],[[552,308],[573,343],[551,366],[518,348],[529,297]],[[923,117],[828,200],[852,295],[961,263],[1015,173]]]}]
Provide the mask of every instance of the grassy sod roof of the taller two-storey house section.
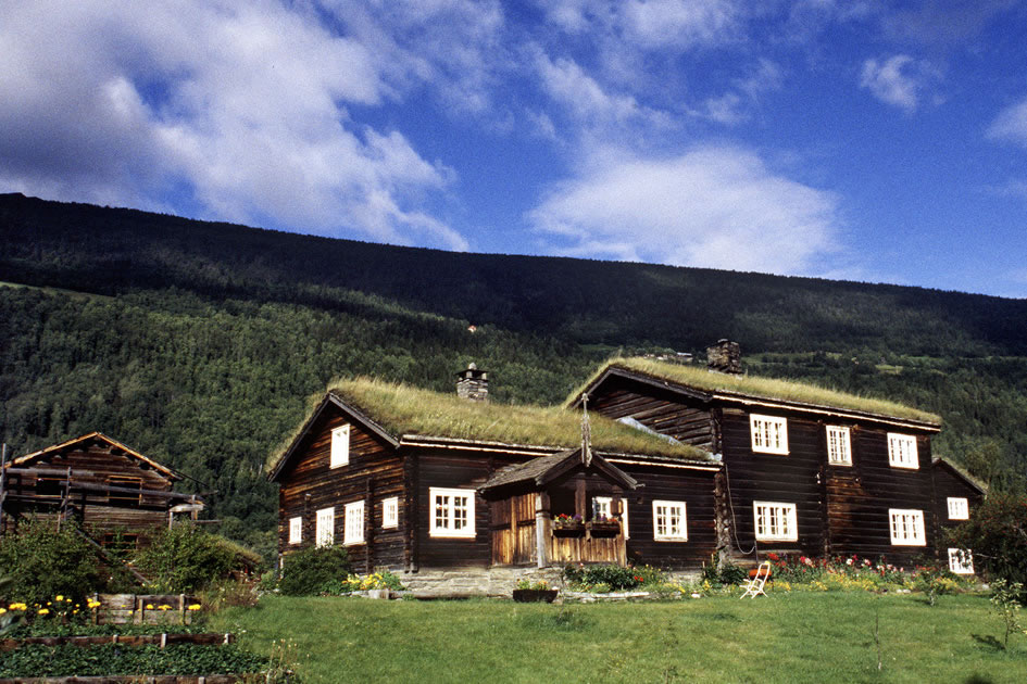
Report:
[{"label": "grassy sod roof of the taller two-storey house section", "polygon": [[586,388],[590,387],[611,367],[624,368],[706,392],[731,392],[765,400],[812,404],[823,407],[849,409],[891,418],[941,425],[941,418],[939,416],[911,406],[897,404],[896,402],[860,396],[859,394],[850,394],[837,390],[828,390],[815,384],[796,382],[793,380],[778,380],[776,378],[761,378],[750,375],[734,376],[723,372],[712,372],[703,366],[668,364],[641,357],[613,358],[608,360],[599,370],[592,373],[588,382],[578,388],[574,394],[564,402],[564,406],[571,406]]}]

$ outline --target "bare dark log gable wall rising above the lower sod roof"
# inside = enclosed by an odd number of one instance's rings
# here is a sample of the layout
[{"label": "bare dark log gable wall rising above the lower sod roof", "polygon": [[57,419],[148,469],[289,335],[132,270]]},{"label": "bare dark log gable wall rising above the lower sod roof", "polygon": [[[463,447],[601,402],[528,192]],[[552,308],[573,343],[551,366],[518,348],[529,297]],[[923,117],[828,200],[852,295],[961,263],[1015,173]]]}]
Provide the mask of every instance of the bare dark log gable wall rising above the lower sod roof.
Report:
[{"label": "bare dark log gable wall rising above the lower sod roof", "polygon": [[660,388],[611,378],[590,406],[608,418],[630,416],[643,426],[675,440],[715,451],[715,433],[707,406],[682,401],[679,394]]}]

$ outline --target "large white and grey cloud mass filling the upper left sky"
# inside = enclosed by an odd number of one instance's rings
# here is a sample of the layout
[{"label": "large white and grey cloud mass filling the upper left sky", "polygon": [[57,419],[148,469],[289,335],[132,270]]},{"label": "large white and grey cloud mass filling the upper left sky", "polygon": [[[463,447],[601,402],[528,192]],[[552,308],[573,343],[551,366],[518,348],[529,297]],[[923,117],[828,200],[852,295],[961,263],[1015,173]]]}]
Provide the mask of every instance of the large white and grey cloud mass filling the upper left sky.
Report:
[{"label": "large white and grey cloud mass filling the upper left sky", "polygon": [[[467,242],[419,203],[451,172],[349,106],[397,97],[362,42],[254,2],[34,2],[0,22],[0,181],[12,189],[378,240]],[[410,67],[412,68],[412,67]]]}]

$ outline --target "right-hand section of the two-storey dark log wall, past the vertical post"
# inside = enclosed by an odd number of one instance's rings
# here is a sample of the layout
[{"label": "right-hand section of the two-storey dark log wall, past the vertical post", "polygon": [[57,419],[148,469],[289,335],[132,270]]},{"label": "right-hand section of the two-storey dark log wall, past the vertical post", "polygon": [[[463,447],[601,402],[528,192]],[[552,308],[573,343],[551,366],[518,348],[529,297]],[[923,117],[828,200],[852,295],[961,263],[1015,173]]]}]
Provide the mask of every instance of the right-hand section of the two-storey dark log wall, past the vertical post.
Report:
[{"label": "right-hand section of the two-storey dark log wall, past the vertical post", "polygon": [[[891,431],[915,434],[902,429]],[[825,466],[830,529],[827,547],[831,554],[872,559],[884,556],[889,562],[909,567],[935,557],[930,438],[916,435],[919,468],[894,468],[888,463],[888,432],[885,427],[851,425],[852,467]],[[826,463],[826,446],[824,454]],[[892,545],[889,508],[923,510],[927,544]]]}]

